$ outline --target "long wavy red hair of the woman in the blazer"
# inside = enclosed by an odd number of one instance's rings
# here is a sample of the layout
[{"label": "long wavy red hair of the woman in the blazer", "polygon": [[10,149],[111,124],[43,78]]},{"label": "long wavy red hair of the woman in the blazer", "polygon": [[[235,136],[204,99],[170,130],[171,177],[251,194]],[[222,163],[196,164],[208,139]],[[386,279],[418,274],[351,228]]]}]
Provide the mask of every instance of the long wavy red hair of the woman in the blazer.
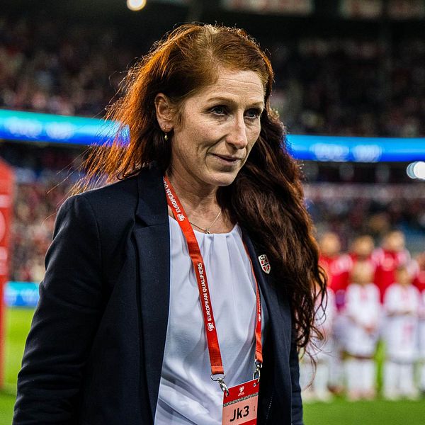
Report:
[{"label": "long wavy red hair of the woman in the blazer", "polygon": [[246,164],[231,185],[219,188],[217,200],[267,253],[276,283],[290,297],[297,346],[304,347],[312,331],[317,333],[314,302],[323,297],[326,279],[318,266],[300,169],[288,154],[285,128],[270,107],[271,62],[244,30],[186,24],[157,42],[128,72],[122,96],[108,108],[107,118],[118,121],[129,140],[123,143],[116,137],[111,146],[95,148],[78,190],[96,179],[125,179],[152,162],[165,172],[171,162],[172,133],[171,142],[166,142],[157,122],[155,96],[165,94],[179,113],[186,98],[217,79],[220,67],[259,74],[266,108]]}]

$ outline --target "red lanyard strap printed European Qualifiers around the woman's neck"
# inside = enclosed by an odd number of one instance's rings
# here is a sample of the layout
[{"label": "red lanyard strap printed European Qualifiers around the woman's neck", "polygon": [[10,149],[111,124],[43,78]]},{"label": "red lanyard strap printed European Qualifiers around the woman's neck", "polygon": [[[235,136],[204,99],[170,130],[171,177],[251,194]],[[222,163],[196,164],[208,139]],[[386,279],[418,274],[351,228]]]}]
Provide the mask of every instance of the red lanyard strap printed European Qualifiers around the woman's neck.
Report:
[{"label": "red lanyard strap printed European Qualifiers around the woman's neck", "polygon": [[[200,304],[203,310],[203,319],[205,324],[205,333],[208,341],[208,351],[210,353],[211,373],[213,375],[225,375],[225,370],[222,364],[222,358],[220,353],[220,345],[218,344],[217,331],[215,329],[215,319],[212,313],[212,305],[210,299],[210,290],[208,288],[208,280],[205,272],[205,264],[203,262],[202,254],[200,253],[198,241],[196,240],[195,233],[193,232],[191,223],[189,223],[186,212],[183,210],[179,198],[177,198],[174,189],[171,186],[169,179],[164,177],[164,188],[166,193],[166,200],[171,210],[173,211],[174,217],[176,217],[181,230],[186,238],[188,244],[189,255],[195,269],[196,280],[198,282],[198,290],[200,297]],[[249,258],[249,255],[248,255]],[[249,259],[251,262],[251,259]],[[261,300],[259,293],[259,285],[256,281],[254,269],[251,270],[256,283],[256,327],[255,327],[255,338],[256,338],[256,350],[255,350],[255,364],[256,372],[259,376],[259,368],[263,363],[263,350],[261,344]],[[211,377],[212,377],[211,376]],[[222,379],[219,379],[219,381]]]}]

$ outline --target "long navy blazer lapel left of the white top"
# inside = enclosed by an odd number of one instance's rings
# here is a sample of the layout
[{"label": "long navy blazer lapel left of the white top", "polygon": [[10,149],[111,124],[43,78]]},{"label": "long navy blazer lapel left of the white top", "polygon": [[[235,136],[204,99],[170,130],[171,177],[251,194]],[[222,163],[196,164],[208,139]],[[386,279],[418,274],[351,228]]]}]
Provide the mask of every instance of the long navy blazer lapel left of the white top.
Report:
[{"label": "long navy blazer lapel left of the white top", "polygon": [[140,306],[145,373],[154,420],[169,317],[169,218],[159,169],[143,169],[137,179],[139,202],[135,227],[140,276]]}]

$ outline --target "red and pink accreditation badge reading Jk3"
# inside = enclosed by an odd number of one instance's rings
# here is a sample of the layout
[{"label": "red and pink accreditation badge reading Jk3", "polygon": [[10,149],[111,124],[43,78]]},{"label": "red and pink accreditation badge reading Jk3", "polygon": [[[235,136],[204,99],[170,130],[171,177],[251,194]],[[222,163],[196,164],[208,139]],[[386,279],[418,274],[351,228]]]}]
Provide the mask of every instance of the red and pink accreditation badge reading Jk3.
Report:
[{"label": "red and pink accreditation badge reading Jk3", "polygon": [[222,425],[256,425],[260,384],[258,379],[229,388],[223,395]]}]

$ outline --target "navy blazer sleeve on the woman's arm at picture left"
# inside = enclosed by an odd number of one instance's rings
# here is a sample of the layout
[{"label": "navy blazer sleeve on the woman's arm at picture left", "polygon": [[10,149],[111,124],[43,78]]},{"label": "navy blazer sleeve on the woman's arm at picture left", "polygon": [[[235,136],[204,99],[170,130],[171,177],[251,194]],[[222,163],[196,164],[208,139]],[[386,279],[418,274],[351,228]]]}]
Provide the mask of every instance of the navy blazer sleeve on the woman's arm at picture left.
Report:
[{"label": "navy blazer sleeve on the woman's arm at picture left", "polygon": [[75,424],[83,369],[102,310],[101,244],[86,196],[60,208],[18,374],[13,425]]}]

